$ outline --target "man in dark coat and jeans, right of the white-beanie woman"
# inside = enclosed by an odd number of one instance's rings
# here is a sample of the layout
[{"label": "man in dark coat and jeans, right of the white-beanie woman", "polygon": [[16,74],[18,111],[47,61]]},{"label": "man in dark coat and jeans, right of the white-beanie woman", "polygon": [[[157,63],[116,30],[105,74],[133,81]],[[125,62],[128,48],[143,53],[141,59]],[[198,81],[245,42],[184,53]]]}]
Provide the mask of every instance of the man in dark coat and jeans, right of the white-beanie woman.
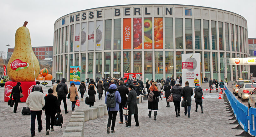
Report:
[{"label": "man in dark coat and jeans, right of the white-beanie woman", "polygon": [[189,86],[188,81],[185,82],[185,87],[182,88],[183,91],[183,100],[187,100],[187,105],[185,106],[185,115],[190,118],[190,110],[191,110],[191,96],[194,94],[192,87]]}]

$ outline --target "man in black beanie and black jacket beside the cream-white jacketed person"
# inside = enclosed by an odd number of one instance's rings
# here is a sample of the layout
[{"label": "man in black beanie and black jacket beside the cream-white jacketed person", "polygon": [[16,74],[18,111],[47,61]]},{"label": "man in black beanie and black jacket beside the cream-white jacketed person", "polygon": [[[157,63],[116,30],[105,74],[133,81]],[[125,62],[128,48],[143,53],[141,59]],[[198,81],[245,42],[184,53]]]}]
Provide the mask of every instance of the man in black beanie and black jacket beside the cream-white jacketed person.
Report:
[{"label": "man in black beanie and black jacket beside the cream-white jacketed person", "polygon": [[46,135],[49,135],[49,131],[54,131],[54,119],[56,113],[60,113],[58,98],[53,95],[53,89],[48,90],[48,95],[44,97],[45,105],[43,110],[45,111],[46,120]]}]

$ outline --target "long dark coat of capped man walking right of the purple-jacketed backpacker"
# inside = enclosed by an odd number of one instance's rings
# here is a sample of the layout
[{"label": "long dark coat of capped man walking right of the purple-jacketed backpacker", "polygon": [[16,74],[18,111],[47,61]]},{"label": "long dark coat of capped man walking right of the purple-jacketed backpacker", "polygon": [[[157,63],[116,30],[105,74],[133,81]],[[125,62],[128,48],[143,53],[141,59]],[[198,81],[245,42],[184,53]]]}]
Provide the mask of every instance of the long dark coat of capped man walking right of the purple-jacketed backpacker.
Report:
[{"label": "long dark coat of capped man walking right of the purple-jacketed backpacker", "polygon": [[125,106],[128,106],[129,115],[139,114],[136,99],[137,99],[137,93],[132,89],[129,92],[127,101],[125,103]]}]

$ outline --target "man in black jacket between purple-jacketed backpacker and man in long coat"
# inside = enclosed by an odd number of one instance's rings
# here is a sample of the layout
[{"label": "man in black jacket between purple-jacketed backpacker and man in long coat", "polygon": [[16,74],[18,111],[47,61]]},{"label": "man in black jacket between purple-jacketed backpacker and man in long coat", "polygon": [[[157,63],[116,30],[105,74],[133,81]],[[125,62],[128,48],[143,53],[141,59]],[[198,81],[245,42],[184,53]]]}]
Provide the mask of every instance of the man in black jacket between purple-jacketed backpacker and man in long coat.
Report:
[{"label": "man in black jacket between purple-jacketed backpacker and man in long coat", "polygon": [[[117,86],[117,90],[121,96],[121,103],[119,104],[119,115],[120,115],[120,124],[123,124],[123,109],[125,107],[125,103],[127,101],[126,95],[129,94],[129,89],[124,85],[123,81],[119,81],[119,85]],[[127,123],[127,117],[125,116],[125,122]]]}]

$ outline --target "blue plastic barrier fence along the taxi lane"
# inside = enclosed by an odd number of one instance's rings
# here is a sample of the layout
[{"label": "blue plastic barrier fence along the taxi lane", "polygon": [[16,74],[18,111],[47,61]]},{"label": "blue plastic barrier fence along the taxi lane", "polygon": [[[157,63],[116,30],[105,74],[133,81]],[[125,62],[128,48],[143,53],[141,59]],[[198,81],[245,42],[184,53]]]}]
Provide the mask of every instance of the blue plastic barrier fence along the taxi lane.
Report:
[{"label": "blue plastic barrier fence along the taxi lane", "polygon": [[[238,121],[238,123],[243,127],[245,132],[248,132],[248,121],[250,122],[250,133],[252,135],[256,135],[255,128],[256,125],[256,109],[250,108],[246,105],[243,105],[241,102],[237,100],[237,98],[233,95],[232,92],[228,90],[225,86],[225,94],[228,98],[228,101],[231,105],[231,108],[234,112],[234,115]],[[254,121],[253,121],[254,120]]]}]

